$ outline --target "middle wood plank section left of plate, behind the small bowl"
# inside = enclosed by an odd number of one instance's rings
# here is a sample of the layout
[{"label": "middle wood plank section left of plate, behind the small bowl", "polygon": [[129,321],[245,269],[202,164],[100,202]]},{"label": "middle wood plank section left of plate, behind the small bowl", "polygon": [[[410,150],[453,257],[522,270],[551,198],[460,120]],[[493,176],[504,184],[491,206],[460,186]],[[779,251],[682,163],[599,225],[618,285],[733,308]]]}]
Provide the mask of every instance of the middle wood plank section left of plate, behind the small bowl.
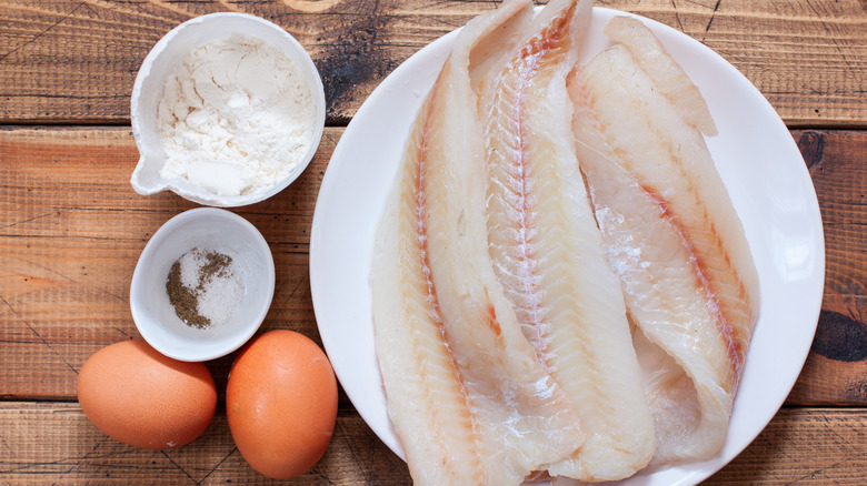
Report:
[{"label": "middle wood plank section left of plate, behind the small bowl", "polygon": [[[341,129],[290,188],[235,210],[271,247],[277,283],[262,330],[319,342],[308,247],[325,166]],[[171,216],[196,207],[172,193],[137,194],[128,129],[0,130],[0,396],[70,398],[84,360],[138,336],[129,284],[139,254]],[[211,363],[225,382],[230,355]]]}]

